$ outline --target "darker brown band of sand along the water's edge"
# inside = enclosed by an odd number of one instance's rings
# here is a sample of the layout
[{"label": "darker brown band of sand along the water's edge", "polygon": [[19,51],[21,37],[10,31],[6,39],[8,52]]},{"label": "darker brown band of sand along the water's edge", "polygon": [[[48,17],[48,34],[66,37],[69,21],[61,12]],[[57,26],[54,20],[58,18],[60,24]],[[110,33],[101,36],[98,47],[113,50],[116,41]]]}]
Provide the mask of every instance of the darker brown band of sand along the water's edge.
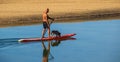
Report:
[{"label": "darker brown band of sand along the water's edge", "polygon": [[[117,9],[104,9],[94,10],[86,12],[73,12],[63,14],[49,14],[55,18],[55,22],[84,22],[90,20],[109,20],[109,19],[120,19],[120,11]],[[41,14],[26,15],[26,16],[14,16],[9,18],[0,18],[0,28],[10,26],[21,26],[21,25],[33,25],[41,24]]]}]

